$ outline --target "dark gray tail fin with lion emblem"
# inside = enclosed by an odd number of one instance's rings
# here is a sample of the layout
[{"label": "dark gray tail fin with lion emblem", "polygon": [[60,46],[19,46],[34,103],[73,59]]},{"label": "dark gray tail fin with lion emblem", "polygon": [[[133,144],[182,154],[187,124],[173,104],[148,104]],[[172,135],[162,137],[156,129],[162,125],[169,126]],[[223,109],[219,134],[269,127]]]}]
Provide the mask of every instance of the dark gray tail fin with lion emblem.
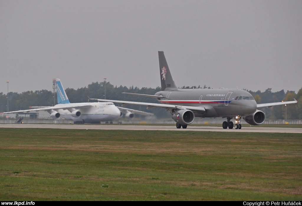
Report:
[{"label": "dark gray tail fin with lion emblem", "polygon": [[173,77],[169,70],[164,52],[158,52],[160,81],[162,83],[162,91],[178,89],[174,83]]}]

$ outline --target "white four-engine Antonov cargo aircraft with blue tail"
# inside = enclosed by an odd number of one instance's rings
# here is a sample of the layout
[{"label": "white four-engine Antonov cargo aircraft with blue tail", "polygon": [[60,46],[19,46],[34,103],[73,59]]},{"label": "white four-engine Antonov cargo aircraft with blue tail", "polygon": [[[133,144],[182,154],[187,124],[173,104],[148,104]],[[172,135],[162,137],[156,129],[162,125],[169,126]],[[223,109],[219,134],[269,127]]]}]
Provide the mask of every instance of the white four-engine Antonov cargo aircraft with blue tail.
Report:
[{"label": "white four-engine Antonov cargo aircraft with blue tail", "polygon": [[133,118],[133,113],[145,116],[153,115],[148,112],[116,107],[112,102],[70,103],[59,79],[56,79],[56,89],[58,104],[55,106],[31,107],[28,110],[4,112],[2,114],[47,111],[53,119],[63,117],[64,119],[73,120],[74,123],[112,123],[113,120],[121,117],[123,113],[127,118]]}]

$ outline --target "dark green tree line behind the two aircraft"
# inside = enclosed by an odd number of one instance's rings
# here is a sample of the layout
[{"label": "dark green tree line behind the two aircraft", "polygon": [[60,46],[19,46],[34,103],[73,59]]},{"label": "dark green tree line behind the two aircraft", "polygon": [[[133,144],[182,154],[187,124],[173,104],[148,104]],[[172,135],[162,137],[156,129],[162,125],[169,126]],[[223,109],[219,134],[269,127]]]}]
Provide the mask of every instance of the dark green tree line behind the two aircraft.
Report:
[{"label": "dark green tree line behind the two aircraft", "polygon": [[[206,89],[208,86],[193,86],[196,88]],[[189,89],[193,88],[192,86],[182,86],[181,89]],[[122,94],[122,92],[129,93],[139,93],[139,94],[149,94],[154,95],[156,92],[161,91],[161,87],[147,88],[147,87],[127,87],[127,86],[114,86],[110,82],[92,82],[87,87],[82,87],[78,89],[67,88],[65,89],[66,94],[69,98],[70,103],[79,103],[79,102],[87,102],[88,97],[90,98],[100,98],[103,99],[105,95],[106,88],[106,99],[113,100],[124,100],[124,101],[140,101],[140,102],[151,102],[151,103],[159,103],[155,98],[143,97],[137,95],[127,95]],[[283,89],[278,92],[271,92],[271,88],[266,89],[264,92],[260,90],[253,92],[248,89],[244,89],[251,93],[258,104],[260,103],[271,103],[271,102],[279,102],[279,101],[293,101],[294,98],[298,101],[297,104],[287,105],[285,108],[284,105],[274,106],[272,108],[261,108],[262,111],[265,112],[266,118],[270,120],[274,119],[285,119],[287,115],[287,119],[302,119],[302,88],[295,93],[295,91],[287,91],[285,92]],[[88,97],[87,97],[88,96]],[[37,90],[37,91],[27,91],[22,93],[17,92],[9,92],[8,100],[9,100],[9,111],[18,111],[18,110],[26,110],[29,106],[53,106],[54,98],[56,101],[56,93],[49,90]],[[120,106],[120,105],[119,105]],[[0,92],[0,109],[1,112],[7,111],[7,94],[3,94]],[[137,105],[128,105],[127,108],[136,109],[140,111],[151,112],[155,114],[159,118],[171,117],[169,112],[166,112],[164,108],[153,108],[147,110],[144,106]]]}]

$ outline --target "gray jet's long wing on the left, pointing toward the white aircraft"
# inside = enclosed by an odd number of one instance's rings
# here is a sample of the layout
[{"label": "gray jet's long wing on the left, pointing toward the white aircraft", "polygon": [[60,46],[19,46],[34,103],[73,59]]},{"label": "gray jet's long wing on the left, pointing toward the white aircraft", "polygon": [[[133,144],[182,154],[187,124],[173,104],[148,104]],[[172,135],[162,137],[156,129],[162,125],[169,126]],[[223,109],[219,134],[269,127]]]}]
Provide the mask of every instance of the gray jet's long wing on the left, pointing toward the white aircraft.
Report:
[{"label": "gray jet's long wing on the left, pointing toward the white aircraft", "polygon": [[[92,98],[89,98],[89,99],[92,99]],[[154,108],[154,107],[161,107],[161,108],[170,108],[170,109],[189,109],[189,110],[197,112],[197,113],[204,113],[206,111],[204,107],[192,107],[192,106],[181,106],[181,105],[164,105],[164,104],[147,103],[147,102],[120,101],[120,100],[108,100],[108,99],[92,99],[92,100],[122,103],[122,107],[125,107],[127,105],[141,105],[141,106],[147,106],[147,109],[151,109],[151,108]]]}]

